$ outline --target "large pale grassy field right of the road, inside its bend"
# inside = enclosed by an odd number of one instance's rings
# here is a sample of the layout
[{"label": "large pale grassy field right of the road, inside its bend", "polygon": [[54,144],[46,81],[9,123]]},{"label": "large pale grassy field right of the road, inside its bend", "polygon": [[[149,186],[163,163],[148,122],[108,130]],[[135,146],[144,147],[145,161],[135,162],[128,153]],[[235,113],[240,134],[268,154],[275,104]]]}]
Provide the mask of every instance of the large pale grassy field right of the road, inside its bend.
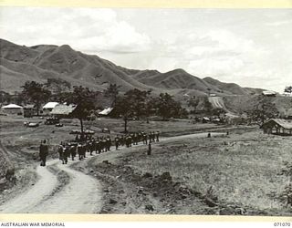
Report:
[{"label": "large pale grassy field right of the road, inside its bend", "polygon": [[[280,195],[288,177],[280,175],[291,162],[291,139],[259,131],[228,138],[180,140],[156,145],[151,157],[130,162],[142,172],[169,171],[197,192],[212,186],[222,203],[240,203],[259,210],[286,211]],[[291,210],[290,210],[291,212]]]}]

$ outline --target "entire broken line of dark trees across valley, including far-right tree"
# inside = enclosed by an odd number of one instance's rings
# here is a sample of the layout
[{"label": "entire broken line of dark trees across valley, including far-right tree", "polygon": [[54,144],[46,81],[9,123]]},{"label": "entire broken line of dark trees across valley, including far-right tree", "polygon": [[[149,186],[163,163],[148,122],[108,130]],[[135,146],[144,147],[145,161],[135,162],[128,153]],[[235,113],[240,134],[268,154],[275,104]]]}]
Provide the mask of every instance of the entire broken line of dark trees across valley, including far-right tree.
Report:
[{"label": "entire broken line of dark trees across valley, including far-right tree", "polygon": [[[190,97],[186,105],[191,109],[183,109],[182,103],[175,100],[168,93],[153,95],[151,90],[140,90],[133,88],[125,93],[120,91],[120,86],[110,84],[104,91],[93,91],[82,86],[72,87],[68,81],[61,78],[49,78],[47,83],[36,81],[26,81],[21,87],[22,91],[15,95],[0,92],[0,102],[11,101],[14,99],[17,104],[34,104],[36,115],[47,101],[57,101],[59,103],[75,104],[73,117],[80,120],[81,131],[83,131],[83,121],[96,110],[102,109],[99,104],[100,94],[104,98],[111,100],[111,107],[114,108],[110,113],[113,118],[124,120],[125,131],[127,131],[130,119],[150,119],[157,116],[162,119],[187,118],[189,114],[196,114],[199,98]],[[214,109],[208,98],[204,98],[203,109],[205,114],[220,116],[225,113],[224,109]],[[278,115],[275,104],[270,98],[258,96],[254,109],[247,112],[249,119],[263,123],[266,119],[274,118]]]}]

